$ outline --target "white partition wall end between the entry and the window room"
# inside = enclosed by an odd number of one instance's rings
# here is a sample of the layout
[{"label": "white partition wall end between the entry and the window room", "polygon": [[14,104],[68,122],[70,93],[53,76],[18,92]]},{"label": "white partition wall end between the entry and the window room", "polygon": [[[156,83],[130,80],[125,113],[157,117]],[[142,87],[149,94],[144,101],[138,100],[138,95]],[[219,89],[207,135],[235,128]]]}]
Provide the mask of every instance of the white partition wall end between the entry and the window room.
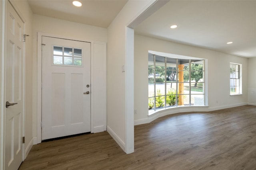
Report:
[{"label": "white partition wall end between the entry and the window room", "polygon": [[[134,119],[133,95],[128,96],[133,92],[128,91],[128,86],[133,89],[133,76],[130,76],[133,73],[133,64],[130,62],[133,61],[133,55],[128,52],[133,50],[129,43],[133,38],[130,35],[133,30],[126,28],[154,2],[128,1],[108,27],[107,131],[126,153],[134,151],[134,126],[133,121],[130,121]],[[122,72],[122,65],[126,67],[125,72]]]}]

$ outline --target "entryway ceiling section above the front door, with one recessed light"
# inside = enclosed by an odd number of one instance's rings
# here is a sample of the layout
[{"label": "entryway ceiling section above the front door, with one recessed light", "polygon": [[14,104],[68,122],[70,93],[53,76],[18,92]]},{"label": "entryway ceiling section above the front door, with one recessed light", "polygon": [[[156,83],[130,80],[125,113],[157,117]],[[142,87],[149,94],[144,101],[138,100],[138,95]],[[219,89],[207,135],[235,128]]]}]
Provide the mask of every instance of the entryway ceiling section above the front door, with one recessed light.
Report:
[{"label": "entryway ceiling section above the front door, with one recessed light", "polygon": [[107,28],[127,0],[28,0],[34,14]]}]

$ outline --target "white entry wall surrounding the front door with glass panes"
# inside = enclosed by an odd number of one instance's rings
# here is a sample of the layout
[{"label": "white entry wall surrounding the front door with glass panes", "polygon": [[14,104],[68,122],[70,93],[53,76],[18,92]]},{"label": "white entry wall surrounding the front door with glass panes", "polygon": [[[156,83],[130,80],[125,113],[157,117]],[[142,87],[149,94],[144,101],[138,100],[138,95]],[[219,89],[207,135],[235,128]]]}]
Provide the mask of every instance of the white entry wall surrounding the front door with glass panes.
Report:
[{"label": "white entry wall surrounding the front door with glass panes", "polygon": [[[106,130],[106,42],[107,29],[95,27],[71,21],[59,20],[55,18],[34,14],[34,43],[33,43],[33,137],[34,143],[37,141],[37,91],[38,91],[38,32],[70,39],[79,39],[92,42],[92,115],[94,127],[91,131],[99,132]],[[39,49],[40,50],[40,49]],[[103,52],[102,52],[103,51]],[[95,85],[94,85],[94,84]],[[95,93],[94,93],[95,91]],[[101,95],[99,93],[102,93]],[[100,107],[99,107],[100,104]],[[40,130],[40,129],[39,129]],[[38,137],[39,139],[39,137]]]}]

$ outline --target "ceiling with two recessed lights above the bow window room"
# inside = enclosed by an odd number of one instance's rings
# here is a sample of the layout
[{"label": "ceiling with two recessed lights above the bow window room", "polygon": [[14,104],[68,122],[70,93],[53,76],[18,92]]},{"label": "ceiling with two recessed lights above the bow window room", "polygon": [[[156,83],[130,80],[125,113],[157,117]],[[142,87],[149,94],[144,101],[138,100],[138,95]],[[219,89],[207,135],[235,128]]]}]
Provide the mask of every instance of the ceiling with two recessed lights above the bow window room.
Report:
[{"label": "ceiling with two recessed lights above the bow window room", "polygon": [[[171,25],[178,25],[171,29]],[[256,1],[174,0],[135,33],[241,57],[256,57]],[[226,44],[232,41],[232,44]]]}]

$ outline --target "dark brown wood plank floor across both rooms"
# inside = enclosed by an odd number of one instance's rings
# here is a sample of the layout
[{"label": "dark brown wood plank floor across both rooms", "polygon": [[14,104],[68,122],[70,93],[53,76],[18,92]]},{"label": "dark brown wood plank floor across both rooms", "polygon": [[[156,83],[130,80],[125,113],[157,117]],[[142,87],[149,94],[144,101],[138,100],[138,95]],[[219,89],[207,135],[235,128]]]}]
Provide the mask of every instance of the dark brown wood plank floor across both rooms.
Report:
[{"label": "dark brown wood plank floor across both rooms", "polygon": [[168,115],[134,127],[125,154],[107,132],[34,145],[20,170],[255,170],[256,107]]}]

